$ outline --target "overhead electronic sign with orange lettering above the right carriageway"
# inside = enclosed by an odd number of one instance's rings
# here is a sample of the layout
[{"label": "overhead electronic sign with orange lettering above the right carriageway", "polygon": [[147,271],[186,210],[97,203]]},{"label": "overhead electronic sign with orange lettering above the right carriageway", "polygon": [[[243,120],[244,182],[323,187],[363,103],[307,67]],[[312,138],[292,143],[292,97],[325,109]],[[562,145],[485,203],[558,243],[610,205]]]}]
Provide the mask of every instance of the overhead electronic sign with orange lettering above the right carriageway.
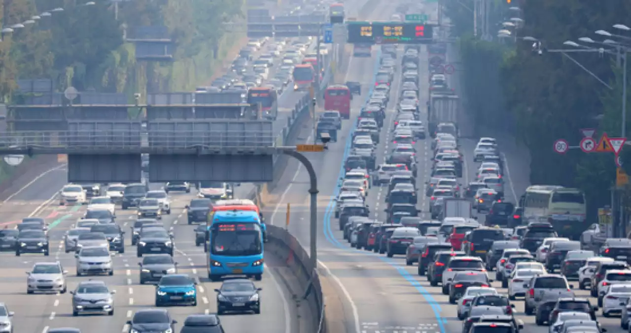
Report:
[{"label": "overhead electronic sign with orange lettering above the right carriageway", "polygon": [[349,43],[403,43],[427,44],[432,42],[432,26],[410,22],[349,22]]}]

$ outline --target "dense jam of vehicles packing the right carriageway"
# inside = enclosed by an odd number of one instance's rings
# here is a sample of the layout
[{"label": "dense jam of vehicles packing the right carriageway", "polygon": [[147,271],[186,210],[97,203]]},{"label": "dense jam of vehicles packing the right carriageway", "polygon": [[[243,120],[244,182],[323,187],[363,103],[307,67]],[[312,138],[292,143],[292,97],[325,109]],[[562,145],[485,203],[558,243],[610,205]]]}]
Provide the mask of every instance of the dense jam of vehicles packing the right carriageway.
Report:
[{"label": "dense jam of vehicles packing the right carriageway", "polygon": [[[413,274],[449,331],[451,318],[463,333],[629,329],[631,240],[594,247],[587,235],[598,225],[581,233],[588,226],[578,189],[535,185],[518,197],[495,138],[464,145],[456,119],[433,119],[439,94],[456,92],[419,62],[421,52],[374,52],[374,82],[363,82],[369,96],[350,119],[335,237]],[[372,326],[364,322],[363,332]],[[388,329],[373,331],[422,331]]]}]

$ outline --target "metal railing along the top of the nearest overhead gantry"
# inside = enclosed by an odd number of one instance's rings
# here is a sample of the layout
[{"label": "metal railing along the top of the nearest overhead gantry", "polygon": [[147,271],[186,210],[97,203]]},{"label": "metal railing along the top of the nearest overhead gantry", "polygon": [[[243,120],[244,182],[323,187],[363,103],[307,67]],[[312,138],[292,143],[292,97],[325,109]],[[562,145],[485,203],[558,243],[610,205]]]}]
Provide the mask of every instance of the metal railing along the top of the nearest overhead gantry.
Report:
[{"label": "metal railing along the top of the nearest overhead gantry", "polygon": [[2,149],[66,149],[120,150],[121,153],[141,148],[186,150],[194,147],[216,149],[272,147],[274,137],[269,131],[151,131],[90,130],[0,133]]}]

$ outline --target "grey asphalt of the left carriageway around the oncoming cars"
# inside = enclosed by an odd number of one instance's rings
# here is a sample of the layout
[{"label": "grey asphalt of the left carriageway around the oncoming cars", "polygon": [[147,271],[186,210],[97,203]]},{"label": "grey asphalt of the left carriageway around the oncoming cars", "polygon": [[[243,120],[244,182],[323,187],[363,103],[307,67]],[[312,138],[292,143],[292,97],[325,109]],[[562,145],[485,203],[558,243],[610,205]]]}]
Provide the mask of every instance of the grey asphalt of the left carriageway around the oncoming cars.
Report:
[{"label": "grey asphalt of the left carriageway around the oncoming cars", "polygon": [[[216,312],[215,288],[220,283],[210,283],[206,279],[206,261],[202,247],[194,244],[194,226],[186,224],[186,205],[192,195],[184,193],[172,193],[172,214],[165,215],[163,224],[165,227],[174,227],[175,233],[175,261],[179,262],[180,273],[198,276],[199,294],[197,307],[169,307],[176,320],[183,322],[187,315],[192,313]],[[56,202],[56,201],[55,201]],[[28,208],[27,208],[28,207]],[[26,209],[35,209],[35,204],[25,206]],[[126,234],[126,252],[114,257],[114,276],[95,276],[93,279],[106,281],[110,288],[117,291],[114,295],[114,317],[86,316],[72,317],[71,295],[27,295],[25,292],[25,271],[28,271],[33,263],[40,261],[60,261],[68,270],[68,290],[73,290],[79,281],[85,281],[88,277],[76,277],[75,258],[73,253],[64,253],[61,247],[61,239],[65,231],[85,213],[85,206],[58,207],[51,205],[45,208],[41,217],[47,218],[51,223],[49,257],[41,255],[24,254],[16,257],[13,252],[0,254],[3,261],[3,279],[0,279],[0,302],[6,302],[11,311],[15,311],[15,327],[17,332],[45,332],[52,327],[71,326],[78,327],[84,332],[119,332],[125,331],[124,324],[133,313],[140,308],[153,307],[155,302],[155,287],[151,285],[139,285],[138,262],[135,247],[129,242],[131,223],[135,219],[134,210],[119,210],[117,223],[121,225]],[[18,217],[18,215],[16,215]],[[251,327],[262,327],[264,332],[286,332],[296,327],[295,315],[292,308],[288,307],[284,287],[278,283],[278,277],[273,276],[268,270],[265,278],[257,282],[263,288],[261,315],[225,315],[222,322],[228,332],[250,332]],[[289,308],[289,312],[284,310]],[[290,320],[289,325],[287,321]],[[96,324],[96,325],[95,325]]]}]

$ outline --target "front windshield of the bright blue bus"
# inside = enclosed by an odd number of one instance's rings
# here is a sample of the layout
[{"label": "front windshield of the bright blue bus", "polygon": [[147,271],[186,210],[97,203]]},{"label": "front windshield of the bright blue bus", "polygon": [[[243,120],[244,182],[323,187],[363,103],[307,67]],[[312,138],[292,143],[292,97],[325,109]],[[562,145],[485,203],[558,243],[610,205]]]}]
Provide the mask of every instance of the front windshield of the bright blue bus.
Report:
[{"label": "front windshield of the bright blue bus", "polygon": [[258,223],[215,223],[210,246],[211,253],[219,256],[261,254],[261,229]]}]

